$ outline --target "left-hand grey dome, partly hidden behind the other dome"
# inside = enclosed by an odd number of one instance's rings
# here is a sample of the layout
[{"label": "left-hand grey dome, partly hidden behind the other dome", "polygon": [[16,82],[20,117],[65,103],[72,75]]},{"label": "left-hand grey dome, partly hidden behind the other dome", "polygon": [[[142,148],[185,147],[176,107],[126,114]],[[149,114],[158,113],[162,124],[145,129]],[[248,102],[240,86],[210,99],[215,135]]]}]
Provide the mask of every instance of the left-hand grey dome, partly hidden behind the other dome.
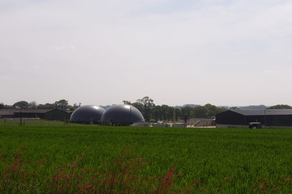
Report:
[{"label": "left-hand grey dome, partly hidden behind the other dome", "polygon": [[89,124],[91,121],[93,123],[99,123],[102,113],[105,109],[101,106],[96,105],[84,105],[77,108],[70,117],[70,122],[73,123],[85,123]]}]

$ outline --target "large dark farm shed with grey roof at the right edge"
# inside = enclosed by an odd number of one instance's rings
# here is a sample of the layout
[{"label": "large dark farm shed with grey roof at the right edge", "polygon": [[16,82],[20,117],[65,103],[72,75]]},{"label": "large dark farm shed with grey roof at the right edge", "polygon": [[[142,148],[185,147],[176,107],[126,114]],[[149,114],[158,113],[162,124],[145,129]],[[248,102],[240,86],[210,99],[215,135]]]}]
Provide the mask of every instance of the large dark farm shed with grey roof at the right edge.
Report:
[{"label": "large dark farm shed with grey roof at the right edge", "polygon": [[228,110],[216,114],[216,127],[243,127],[259,122],[264,126],[292,126],[292,109]]}]

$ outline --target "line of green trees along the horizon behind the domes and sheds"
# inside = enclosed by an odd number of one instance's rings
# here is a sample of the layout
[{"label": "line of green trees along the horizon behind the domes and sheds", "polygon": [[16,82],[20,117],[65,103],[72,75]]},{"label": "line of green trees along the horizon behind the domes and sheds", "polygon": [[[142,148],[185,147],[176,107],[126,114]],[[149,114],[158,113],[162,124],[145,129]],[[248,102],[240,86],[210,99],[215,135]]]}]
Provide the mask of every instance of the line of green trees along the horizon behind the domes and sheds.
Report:
[{"label": "line of green trees along the horizon behind the domes and sheds", "polygon": [[[212,104],[201,105],[185,105],[181,106],[168,106],[168,105],[155,105],[154,100],[150,97],[143,97],[137,99],[135,102],[130,102],[128,100],[123,100],[124,104],[132,105],[136,107],[144,116],[146,121],[150,120],[165,120],[165,121],[178,121],[180,119],[189,118],[206,118],[210,116],[215,116],[218,113],[227,111],[228,109],[224,107],[217,107]],[[74,111],[81,106],[74,103],[69,105],[68,100],[61,99],[55,101],[54,103],[37,104],[36,101],[18,101],[13,104],[13,106],[18,106],[21,109],[59,109],[63,111]],[[263,105],[262,105],[263,106]],[[105,106],[108,108],[110,106]],[[0,109],[5,108],[3,103],[0,103]],[[230,110],[238,110],[240,107],[230,107]],[[275,106],[268,107],[267,109],[292,109],[289,105],[278,104]]]}]

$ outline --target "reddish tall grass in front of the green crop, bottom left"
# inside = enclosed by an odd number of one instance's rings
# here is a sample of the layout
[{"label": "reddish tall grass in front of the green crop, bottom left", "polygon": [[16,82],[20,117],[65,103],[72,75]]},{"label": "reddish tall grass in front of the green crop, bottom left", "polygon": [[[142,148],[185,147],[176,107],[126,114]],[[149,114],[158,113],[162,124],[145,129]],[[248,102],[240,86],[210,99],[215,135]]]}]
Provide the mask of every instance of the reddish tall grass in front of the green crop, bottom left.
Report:
[{"label": "reddish tall grass in front of the green crop, bottom left", "polygon": [[[141,176],[141,169],[146,165],[145,158],[133,158],[134,153],[126,148],[108,166],[96,169],[78,168],[83,156],[81,154],[71,164],[56,169],[47,181],[42,181],[44,185],[38,185],[38,168],[47,160],[40,160],[29,171],[25,166],[30,162],[25,162],[21,157],[24,150],[21,147],[13,162],[1,172],[1,194],[167,194],[173,189],[174,179],[178,177],[175,166],[161,178]],[[185,194],[189,192],[189,189],[184,190]]]}]

